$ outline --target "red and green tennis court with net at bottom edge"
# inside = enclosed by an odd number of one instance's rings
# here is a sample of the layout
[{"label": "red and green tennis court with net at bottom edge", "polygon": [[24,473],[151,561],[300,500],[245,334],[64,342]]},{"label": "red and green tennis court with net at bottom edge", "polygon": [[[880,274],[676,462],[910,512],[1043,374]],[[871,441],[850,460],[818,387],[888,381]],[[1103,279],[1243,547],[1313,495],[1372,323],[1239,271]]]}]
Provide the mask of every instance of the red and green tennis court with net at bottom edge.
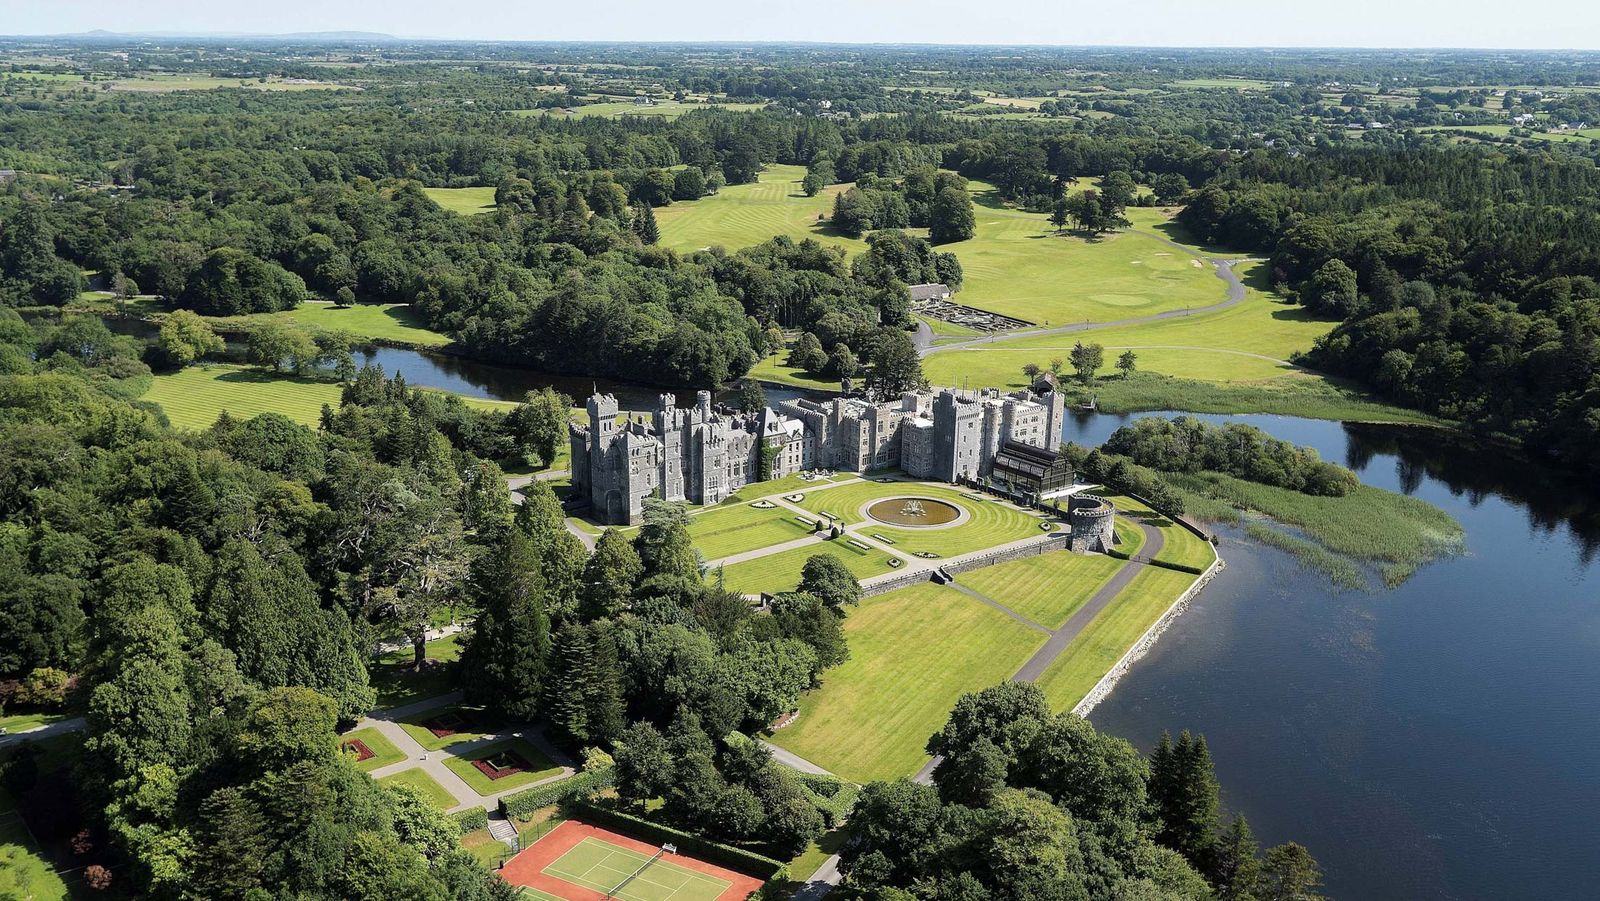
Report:
[{"label": "red and green tennis court with net at bottom edge", "polygon": [[541,901],[744,901],[762,880],[568,819],[501,867]]}]

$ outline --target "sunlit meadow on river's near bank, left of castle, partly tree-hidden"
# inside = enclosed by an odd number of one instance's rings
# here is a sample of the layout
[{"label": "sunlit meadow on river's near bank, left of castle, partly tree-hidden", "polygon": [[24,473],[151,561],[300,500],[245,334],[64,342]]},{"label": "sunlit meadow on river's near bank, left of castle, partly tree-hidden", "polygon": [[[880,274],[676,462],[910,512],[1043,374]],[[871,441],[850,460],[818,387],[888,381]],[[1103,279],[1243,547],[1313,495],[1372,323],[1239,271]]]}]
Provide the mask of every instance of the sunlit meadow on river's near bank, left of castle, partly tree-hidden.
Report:
[{"label": "sunlit meadow on river's near bank, left of castle, partly tree-hidden", "polygon": [[[179,429],[210,429],[226,410],[237,419],[259,413],[282,413],[296,422],[315,427],[322,421],[322,405],[339,406],[339,382],[269,373],[232,363],[205,363],[152,379],[141,400],[150,400]],[[509,410],[506,400],[462,397],[478,410]]]}]

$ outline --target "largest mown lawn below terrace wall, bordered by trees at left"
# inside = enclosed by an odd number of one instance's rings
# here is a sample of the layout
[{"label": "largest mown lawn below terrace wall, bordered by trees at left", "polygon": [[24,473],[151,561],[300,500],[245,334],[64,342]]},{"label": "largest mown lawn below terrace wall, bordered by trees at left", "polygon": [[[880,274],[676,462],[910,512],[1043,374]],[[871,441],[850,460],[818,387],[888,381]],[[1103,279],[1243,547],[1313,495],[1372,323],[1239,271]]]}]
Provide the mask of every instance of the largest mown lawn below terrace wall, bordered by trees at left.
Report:
[{"label": "largest mown lawn below terrace wall, bordered by trees at left", "polygon": [[1046,639],[933,583],[861,602],[845,634],[850,659],[771,741],[858,783],[915,773],[955,699],[1003,682]]}]

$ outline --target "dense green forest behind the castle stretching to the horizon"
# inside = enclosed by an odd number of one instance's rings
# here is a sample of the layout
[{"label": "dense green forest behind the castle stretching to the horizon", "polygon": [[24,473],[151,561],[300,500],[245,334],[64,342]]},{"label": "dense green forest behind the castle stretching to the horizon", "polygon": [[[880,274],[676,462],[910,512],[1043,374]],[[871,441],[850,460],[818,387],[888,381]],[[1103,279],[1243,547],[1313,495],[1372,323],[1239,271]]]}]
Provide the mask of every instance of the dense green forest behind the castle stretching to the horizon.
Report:
[{"label": "dense green forest behind the castle stretching to the horizon", "polygon": [[[912,250],[922,266],[875,248],[853,267],[806,246],[669,253],[651,246],[653,208],[752,181],[770,163],[803,165],[808,192],[854,182],[834,205],[840,234],[931,226],[938,245],[971,234],[962,178],[1096,230],[1115,227],[1144,184],[1146,197],[1186,203],[1195,235],[1269,253],[1288,293],[1346,320],[1307,363],[1595,463],[1600,176],[1587,154],[1600,142],[1453,142],[1408,130],[1483,118],[1488,93],[1458,85],[1512,77],[1525,86],[1496,93],[1498,117],[1595,118],[1600,94],[1550,58],[1243,54],[1229,58],[1229,78],[1262,86],[1229,91],[1171,88],[1216,78],[1222,59],[1202,51],[1157,77],[1141,53],[1112,64],[1096,51],[842,48],[848,64],[824,72],[813,66],[821,50],[686,64],[597,46],[584,69],[563,64],[573,48],[530,50],[541,62],[522,67],[504,62],[506,48],[435,50],[478,64],[424,64],[397,45],[382,51],[392,69],[354,70],[358,93],[94,85],[138,66],[242,85],[326,78],[349,70],[318,61],[358,62],[371,48],[147,46],[120,59],[88,45],[74,50],[86,90],[0,72],[0,163],[19,173],[0,194],[0,301],[69,304],[82,270],[203,314],[312,296],[405,301],[472,355],[730,384],[778,349],[773,326],[821,338],[813,371],[840,370],[827,365],[838,344],[850,349],[838,363],[870,366],[875,330],[909,320],[898,283],[958,270],[926,250]],[[1075,64],[1086,61],[1106,69],[1083,75]],[[1005,106],[971,102],[973,91],[1058,99],[1048,120],[1013,122],[989,115]],[[510,112],[637,94],[704,99],[680,118]],[[718,109],[750,99],[763,107]],[[1115,186],[1098,197],[1104,211],[1064,208],[1066,187],[1085,176]],[[453,216],[424,186],[494,186],[498,210]]]}]

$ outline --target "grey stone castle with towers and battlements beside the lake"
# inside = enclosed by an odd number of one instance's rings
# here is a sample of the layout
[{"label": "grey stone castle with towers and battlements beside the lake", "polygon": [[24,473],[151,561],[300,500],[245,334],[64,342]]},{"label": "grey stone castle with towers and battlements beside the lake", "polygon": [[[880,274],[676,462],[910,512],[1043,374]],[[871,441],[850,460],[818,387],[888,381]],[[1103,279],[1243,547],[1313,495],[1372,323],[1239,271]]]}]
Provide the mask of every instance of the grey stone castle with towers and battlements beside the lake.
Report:
[{"label": "grey stone castle with towers and battlements beside the lake", "polygon": [[637,523],[645,498],[717,504],[752,482],[810,469],[901,469],[915,479],[984,479],[1006,445],[1054,453],[1061,392],[950,389],[899,400],[786,400],[774,411],[731,413],[701,390],[682,410],[664,394],[648,418],[624,414],[616,397],[589,398],[589,424],[571,427],[573,495],[594,519]]}]

